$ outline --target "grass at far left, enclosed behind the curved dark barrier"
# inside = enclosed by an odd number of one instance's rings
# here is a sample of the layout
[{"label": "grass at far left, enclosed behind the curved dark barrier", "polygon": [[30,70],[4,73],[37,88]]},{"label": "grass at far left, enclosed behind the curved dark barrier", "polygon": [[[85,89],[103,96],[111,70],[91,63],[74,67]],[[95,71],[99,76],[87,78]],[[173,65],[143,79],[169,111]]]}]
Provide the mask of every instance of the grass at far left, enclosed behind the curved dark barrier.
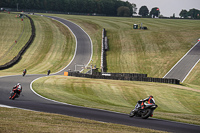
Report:
[{"label": "grass at far left, enclosed behind the curved dark barrier", "polygon": [[16,14],[0,13],[0,21],[0,65],[4,65],[12,60],[28,42],[31,36],[31,25],[28,18],[21,21]]}]

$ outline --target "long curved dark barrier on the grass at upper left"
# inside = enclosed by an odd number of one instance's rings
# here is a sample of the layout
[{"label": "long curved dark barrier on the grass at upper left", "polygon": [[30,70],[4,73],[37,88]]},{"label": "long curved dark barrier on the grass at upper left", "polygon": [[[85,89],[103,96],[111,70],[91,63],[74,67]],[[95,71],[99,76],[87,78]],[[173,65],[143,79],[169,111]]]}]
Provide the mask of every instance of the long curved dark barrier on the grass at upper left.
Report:
[{"label": "long curved dark barrier on the grass at upper left", "polygon": [[30,23],[31,23],[31,28],[32,28],[31,36],[30,36],[28,42],[24,45],[24,47],[17,54],[17,56],[15,56],[11,61],[7,62],[6,64],[1,65],[0,70],[10,68],[13,65],[17,64],[19,62],[19,60],[21,59],[21,56],[25,53],[25,51],[28,49],[28,47],[31,45],[31,43],[33,42],[33,40],[35,38],[35,25],[33,23],[33,20],[28,15],[26,15],[26,17],[30,20]]}]

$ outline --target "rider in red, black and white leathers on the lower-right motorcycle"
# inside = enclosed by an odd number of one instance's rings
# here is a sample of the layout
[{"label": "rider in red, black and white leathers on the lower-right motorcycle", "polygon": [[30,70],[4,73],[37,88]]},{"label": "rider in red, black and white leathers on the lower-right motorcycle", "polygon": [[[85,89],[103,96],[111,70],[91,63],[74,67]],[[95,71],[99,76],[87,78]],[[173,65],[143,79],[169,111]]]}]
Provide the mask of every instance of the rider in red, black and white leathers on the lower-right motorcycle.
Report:
[{"label": "rider in red, black and white leathers on the lower-right motorcycle", "polygon": [[139,109],[144,109],[144,102],[148,102],[148,104],[154,104],[155,101],[153,99],[153,96],[150,95],[149,97],[143,99],[143,100],[139,100],[137,102],[137,104],[135,105],[135,109],[133,110],[134,112],[137,112]]}]

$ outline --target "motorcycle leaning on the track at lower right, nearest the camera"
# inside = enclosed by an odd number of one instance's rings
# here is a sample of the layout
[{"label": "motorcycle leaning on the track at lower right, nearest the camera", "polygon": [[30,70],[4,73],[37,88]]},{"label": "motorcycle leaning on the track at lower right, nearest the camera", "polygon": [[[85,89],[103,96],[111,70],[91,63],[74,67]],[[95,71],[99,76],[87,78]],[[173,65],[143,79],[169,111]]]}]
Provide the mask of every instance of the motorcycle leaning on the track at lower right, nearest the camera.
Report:
[{"label": "motorcycle leaning on the track at lower right, nearest the camera", "polygon": [[[141,108],[133,109],[130,112],[129,117],[136,116],[136,117],[141,117],[143,119],[147,119],[149,117],[152,117],[153,116],[153,112],[158,107],[158,105],[156,105],[155,102],[153,104],[148,104],[148,103],[145,103],[143,101],[140,101],[140,102],[142,102],[141,104],[144,105],[144,108],[143,109],[141,109]],[[137,104],[140,104],[140,102],[137,103]]]}]

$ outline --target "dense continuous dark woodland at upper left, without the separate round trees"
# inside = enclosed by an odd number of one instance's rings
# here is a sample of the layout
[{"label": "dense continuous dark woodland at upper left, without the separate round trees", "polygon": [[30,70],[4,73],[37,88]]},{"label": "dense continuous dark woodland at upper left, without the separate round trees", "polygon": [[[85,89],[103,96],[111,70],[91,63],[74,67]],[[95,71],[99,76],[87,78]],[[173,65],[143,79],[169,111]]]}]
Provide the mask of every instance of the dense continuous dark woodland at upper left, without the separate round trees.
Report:
[{"label": "dense continuous dark woodland at upper left, without the separate round trees", "polygon": [[132,16],[133,4],[121,0],[0,0],[0,7]]}]

